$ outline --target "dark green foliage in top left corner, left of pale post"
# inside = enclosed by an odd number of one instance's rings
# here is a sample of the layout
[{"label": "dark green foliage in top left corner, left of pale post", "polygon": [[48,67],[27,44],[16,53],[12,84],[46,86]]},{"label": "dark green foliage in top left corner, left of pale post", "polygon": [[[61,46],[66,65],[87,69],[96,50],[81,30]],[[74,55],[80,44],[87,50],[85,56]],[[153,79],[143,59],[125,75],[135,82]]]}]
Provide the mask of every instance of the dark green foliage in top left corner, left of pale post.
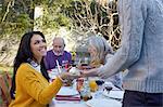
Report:
[{"label": "dark green foliage in top left corner, left of pale post", "polygon": [[15,40],[27,30],[33,28],[33,19],[29,16],[33,10],[28,8],[29,1],[18,1],[15,3],[5,1],[0,11],[0,35],[2,39]]}]

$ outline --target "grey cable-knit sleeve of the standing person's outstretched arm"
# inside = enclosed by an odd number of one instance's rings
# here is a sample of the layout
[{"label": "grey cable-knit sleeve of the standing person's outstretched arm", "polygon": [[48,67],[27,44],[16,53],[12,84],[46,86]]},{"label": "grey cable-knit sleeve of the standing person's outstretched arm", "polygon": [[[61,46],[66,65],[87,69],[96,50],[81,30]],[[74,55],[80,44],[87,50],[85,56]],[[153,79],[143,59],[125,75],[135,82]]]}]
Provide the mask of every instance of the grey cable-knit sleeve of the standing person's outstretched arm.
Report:
[{"label": "grey cable-knit sleeve of the standing person's outstretched arm", "polygon": [[145,2],[146,0],[118,1],[122,46],[103,67],[98,69],[100,77],[109,78],[139,59],[147,16],[147,3]]}]

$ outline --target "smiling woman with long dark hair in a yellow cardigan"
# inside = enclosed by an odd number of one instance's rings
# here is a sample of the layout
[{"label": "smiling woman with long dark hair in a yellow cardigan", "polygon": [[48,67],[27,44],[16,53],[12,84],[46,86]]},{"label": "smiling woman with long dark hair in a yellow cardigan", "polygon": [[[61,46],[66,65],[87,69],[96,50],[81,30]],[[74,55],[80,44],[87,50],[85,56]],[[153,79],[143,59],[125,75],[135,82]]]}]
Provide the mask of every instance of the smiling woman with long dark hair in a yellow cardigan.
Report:
[{"label": "smiling woman with long dark hair in a yellow cardigan", "polygon": [[13,101],[10,107],[46,107],[57,95],[62,83],[75,78],[68,72],[62,72],[49,83],[43,63],[46,53],[47,45],[42,32],[32,31],[22,37],[14,61],[10,91]]}]

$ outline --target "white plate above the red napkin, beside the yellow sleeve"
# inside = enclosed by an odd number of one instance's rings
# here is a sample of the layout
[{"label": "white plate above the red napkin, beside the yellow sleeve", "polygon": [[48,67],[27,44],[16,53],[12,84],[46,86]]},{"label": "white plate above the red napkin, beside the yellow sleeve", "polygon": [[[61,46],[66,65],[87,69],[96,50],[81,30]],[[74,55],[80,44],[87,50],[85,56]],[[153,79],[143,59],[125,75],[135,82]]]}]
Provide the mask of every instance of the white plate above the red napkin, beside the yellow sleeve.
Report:
[{"label": "white plate above the red napkin, beside the yellow sleeve", "polygon": [[75,89],[62,86],[57,95],[76,95],[79,94]]}]

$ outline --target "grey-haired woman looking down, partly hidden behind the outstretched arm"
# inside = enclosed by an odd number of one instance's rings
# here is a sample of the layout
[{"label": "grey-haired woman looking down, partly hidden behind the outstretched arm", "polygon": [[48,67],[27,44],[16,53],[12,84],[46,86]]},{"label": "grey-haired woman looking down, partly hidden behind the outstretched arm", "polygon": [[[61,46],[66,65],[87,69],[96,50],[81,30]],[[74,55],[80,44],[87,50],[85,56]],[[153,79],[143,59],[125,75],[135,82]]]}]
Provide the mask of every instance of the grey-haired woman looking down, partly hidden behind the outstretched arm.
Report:
[{"label": "grey-haired woman looking down, partly hidden behind the outstretched arm", "polygon": [[[114,54],[112,46],[102,36],[89,38],[88,52],[90,53],[90,66],[98,68],[103,66]],[[108,79],[115,86],[122,89],[122,73],[113,75]]]}]

